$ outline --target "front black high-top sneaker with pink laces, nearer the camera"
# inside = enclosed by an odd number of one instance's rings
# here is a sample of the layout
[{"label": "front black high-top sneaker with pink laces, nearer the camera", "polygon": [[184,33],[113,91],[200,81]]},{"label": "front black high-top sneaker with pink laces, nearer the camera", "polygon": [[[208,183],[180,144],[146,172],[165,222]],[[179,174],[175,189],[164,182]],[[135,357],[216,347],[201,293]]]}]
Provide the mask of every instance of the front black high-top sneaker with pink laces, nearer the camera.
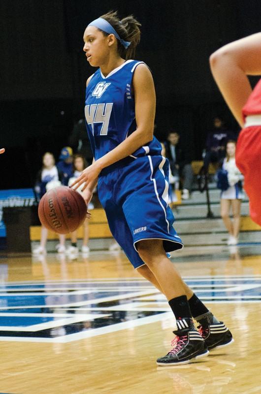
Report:
[{"label": "front black high-top sneaker with pink laces, nearer the camera", "polygon": [[202,336],[196,330],[190,318],[177,320],[176,335],[171,342],[173,349],[166,356],[157,360],[158,365],[188,364],[192,359],[208,356],[209,351]]}]

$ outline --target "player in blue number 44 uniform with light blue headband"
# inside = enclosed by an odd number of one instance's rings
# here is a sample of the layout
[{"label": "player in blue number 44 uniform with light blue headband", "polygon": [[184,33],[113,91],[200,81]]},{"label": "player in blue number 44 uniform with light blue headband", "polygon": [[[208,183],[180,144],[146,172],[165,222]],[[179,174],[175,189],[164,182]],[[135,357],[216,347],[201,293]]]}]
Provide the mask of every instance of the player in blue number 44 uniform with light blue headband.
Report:
[{"label": "player in blue number 44 uniform with light blue headband", "polygon": [[84,32],[87,60],[99,67],[87,80],[85,102],[95,161],[72,186],[86,182],[88,203],[98,182],[112,234],[134,268],[168,299],[178,329],[173,349],[157,363],[176,365],[207,356],[208,348],[226,345],[232,336],[166,257],[166,252],[183,245],[168,207],[169,164],[153,136],[153,78],[143,62],[131,60],[140,39],[139,26],[132,16],[120,21],[116,12],[109,12]]}]

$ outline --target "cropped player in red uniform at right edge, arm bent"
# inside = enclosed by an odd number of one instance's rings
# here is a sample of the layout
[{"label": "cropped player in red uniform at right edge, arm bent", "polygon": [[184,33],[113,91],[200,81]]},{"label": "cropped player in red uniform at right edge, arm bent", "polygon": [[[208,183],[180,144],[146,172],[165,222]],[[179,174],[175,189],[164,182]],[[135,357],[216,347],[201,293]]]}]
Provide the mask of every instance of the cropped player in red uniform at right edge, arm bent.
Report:
[{"label": "cropped player in red uniform at right edge, arm bent", "polygon": [[236,145],[236,165],[244,175],[250,215],[261,225],[261,80],[254,91],[248,75],[261,74],[261,33],[225,45],[210,57],[212,74],[243,130]]}]

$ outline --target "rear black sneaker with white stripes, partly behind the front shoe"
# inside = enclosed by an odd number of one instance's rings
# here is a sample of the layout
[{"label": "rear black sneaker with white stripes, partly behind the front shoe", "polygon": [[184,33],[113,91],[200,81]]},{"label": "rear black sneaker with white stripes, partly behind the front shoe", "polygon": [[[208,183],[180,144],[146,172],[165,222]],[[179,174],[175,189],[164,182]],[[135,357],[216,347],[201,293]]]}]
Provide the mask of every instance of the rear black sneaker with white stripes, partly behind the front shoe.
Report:
[{"label": "rear black sneaker with white stripes, partly behind the front shoe", "polygon": [[200,326],[197,327],[198,332],[204,339],[208,350],[223,348],[234,342],[231,332],[223,322],[200,323]]}]

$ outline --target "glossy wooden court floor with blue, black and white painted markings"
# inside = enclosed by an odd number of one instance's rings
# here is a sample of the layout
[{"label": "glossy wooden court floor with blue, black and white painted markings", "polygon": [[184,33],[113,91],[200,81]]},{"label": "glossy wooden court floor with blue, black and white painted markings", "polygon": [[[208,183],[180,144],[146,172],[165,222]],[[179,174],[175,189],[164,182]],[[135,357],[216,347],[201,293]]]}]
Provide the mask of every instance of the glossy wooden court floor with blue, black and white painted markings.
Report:
[{"label": "glossy wooden court floor with blue, black and white painted markings", "polygon": [[261,393],[261,245],[185,248],[172,261],[235,342],[157,367],[175,322],[122,253],[0,254],[0,393]]}]

